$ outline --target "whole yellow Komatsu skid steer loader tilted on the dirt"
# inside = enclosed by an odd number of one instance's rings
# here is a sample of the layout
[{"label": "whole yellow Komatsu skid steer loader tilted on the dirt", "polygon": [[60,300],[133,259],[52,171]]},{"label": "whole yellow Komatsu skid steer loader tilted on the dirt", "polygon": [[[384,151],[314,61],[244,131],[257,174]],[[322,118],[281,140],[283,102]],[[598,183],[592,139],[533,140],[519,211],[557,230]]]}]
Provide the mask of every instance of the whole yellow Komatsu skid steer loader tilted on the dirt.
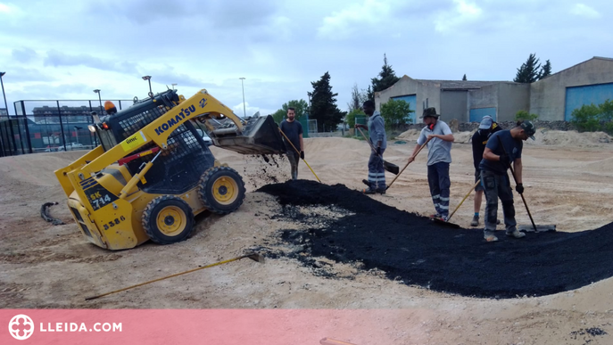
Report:
[{"label": "whole yellow Komatsu skid steer loader tilted on the dirt", "polygon": [[228,150],[285,151],[272,117],[240,119],[204,89],[188,99],[168,90],[122,111],[105,108],[109,115],[89,126],[101,145],[55,175],[81,233],[109,250],[183,241],[195,215],[227,214],[243,203],[243,178],[215,160],[199,123]]}]

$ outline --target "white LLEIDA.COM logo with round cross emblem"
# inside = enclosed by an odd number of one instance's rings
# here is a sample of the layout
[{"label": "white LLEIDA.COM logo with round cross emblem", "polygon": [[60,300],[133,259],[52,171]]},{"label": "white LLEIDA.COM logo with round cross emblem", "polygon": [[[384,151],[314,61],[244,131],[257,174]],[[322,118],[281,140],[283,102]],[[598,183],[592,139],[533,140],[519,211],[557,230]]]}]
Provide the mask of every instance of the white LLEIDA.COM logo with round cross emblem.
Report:
[{"label": "white LLEIDA.COM logo with round cross emblem", "polygon": [[[121,323],[100,323],[96,322],[91,327],[87,327],[85,323],[40,323],[40,332],[121,332]],[[28,339],[34,333],[34,321],[27,315],[12,316],[9,322],[9,333],[18,341]]]}]

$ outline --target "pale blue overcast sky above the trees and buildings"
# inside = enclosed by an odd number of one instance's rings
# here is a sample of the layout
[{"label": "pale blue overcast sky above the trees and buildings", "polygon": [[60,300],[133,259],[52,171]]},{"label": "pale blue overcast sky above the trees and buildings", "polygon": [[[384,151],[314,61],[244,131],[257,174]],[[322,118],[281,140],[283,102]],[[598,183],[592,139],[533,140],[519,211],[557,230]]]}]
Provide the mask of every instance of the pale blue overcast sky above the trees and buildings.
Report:
[{"label": "pale blue overcast sky above the trees and buildings", "polygon": [[[328,71],[346,111],[383,54],[398,77],[512,80],[613,57],[613,1],[0,0],[0,71],[18,100],[146,97],[176,83],[243,114],[308,100]],[[2,106],[4,108],[4,104]]]}]

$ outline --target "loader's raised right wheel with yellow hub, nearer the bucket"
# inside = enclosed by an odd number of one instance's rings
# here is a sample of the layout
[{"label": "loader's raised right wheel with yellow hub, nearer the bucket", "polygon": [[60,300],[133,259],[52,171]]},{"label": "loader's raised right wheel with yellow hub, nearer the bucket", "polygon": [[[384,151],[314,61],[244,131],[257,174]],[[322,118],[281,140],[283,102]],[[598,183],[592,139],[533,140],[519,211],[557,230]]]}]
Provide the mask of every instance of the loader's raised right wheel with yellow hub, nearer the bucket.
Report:
[{"label": "loader's raised right wheel with yellow hub, nearer the bucket", "polygon": [[243,177],[233,168],[209,168],[198,182],[198,196],[204,207],[213,213],[234,212],[244,201]]}]

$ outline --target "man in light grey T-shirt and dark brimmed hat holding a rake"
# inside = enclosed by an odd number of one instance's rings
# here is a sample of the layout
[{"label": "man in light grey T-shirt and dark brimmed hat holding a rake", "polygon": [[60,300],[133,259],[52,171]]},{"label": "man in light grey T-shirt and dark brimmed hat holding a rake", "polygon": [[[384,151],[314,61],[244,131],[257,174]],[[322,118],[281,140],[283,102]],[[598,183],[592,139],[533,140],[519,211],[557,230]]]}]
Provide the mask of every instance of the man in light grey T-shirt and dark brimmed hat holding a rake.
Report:
[{"label": "man in light grey T-shirt and dark brimmed hat holding a rake", "polygon": [[449,164],[451,163],[451,143],[453,134],[446,123],[439,120],[440,114],[435,108],[427,108],[419,119],[424,119],[426,127],[421,129],[418,144],[409,158],[409,163],[415,160],[419,147],[427,143],[427,183],[430,195],[435,204],[436,214],[433,218],[447,221],[449,217]]}]

